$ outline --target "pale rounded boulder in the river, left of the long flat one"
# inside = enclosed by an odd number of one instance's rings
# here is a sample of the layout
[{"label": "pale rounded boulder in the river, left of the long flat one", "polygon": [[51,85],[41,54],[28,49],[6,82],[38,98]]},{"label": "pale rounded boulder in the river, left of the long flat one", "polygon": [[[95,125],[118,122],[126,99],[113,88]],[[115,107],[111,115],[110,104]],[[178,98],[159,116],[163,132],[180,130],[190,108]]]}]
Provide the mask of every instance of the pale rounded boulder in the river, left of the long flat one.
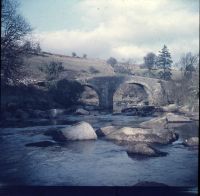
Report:
[{"label": "pale rounded boulder in the river, left of the long flat one", "polygon": [[59,130],[58,136],[62,140],[96,140],[97,135],[87,122],[79,122]]}]

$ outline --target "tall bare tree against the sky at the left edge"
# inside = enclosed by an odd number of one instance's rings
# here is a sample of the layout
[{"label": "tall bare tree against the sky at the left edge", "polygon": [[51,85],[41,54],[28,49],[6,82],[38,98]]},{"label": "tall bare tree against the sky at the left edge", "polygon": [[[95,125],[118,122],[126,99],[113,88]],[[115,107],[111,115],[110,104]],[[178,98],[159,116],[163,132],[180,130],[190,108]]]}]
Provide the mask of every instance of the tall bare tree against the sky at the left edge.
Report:
[{"label": "tall bare tree against the sky at the left edge", "polygon": [[22,57],[27,54],[24,43],[32,30],[18,13],[18,7],[16,0],[2,0],[1,78],[5,82],[15,81],[20,77]]}]

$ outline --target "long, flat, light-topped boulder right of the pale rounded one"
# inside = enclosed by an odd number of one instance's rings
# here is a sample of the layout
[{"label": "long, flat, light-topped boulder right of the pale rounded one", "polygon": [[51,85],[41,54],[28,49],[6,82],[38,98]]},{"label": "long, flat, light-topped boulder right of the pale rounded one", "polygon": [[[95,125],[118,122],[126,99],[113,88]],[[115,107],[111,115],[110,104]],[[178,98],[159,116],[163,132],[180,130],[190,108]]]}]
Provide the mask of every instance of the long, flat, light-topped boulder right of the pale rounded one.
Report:
[{"label": "long, flat, light-topped boulder right of the pale rounded one", "polygon": [[148,142],[169,144],[178,139],[178,135],[167,129],[144,129],[131,127],[102,127],[97,130],[98,136],[104,136],[108,140],[127,142]]}]

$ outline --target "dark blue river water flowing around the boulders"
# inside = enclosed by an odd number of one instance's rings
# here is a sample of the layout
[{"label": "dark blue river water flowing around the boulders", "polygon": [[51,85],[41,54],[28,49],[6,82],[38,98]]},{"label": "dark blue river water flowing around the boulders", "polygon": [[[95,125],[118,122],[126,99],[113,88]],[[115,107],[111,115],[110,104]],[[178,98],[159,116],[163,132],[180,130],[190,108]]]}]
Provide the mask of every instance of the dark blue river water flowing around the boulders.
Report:
[{"label": "dark blue river water flowing around the boulders", "polygon": [[196,187],[198,150],[181,144],[184,138],[198,134],[196,123],[179,126],[175,129],[179,140],[159,146],[161,151],[169,153],[165,157],[131,158],[124,146],[104,139],[57,143],[48,147],[26,146],[32,142],[53,141],[44,135],[46,130],[82,120],[97,129],[108,125],[137,127],[148,119],[107,114],[15,122],[15,127],[9,124],[0,130],[0,184],[132,186],[141,181],[154,181],[170,186]]}]

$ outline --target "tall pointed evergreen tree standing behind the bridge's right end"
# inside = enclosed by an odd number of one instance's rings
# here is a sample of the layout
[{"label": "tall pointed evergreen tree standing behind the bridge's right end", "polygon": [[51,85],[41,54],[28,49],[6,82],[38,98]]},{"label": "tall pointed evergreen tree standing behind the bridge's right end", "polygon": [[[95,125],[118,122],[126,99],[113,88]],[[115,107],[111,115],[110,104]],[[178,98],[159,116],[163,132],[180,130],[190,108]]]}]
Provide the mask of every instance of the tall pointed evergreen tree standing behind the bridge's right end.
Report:
[{"label": "tall pointed evergreen tree standing behind the bridge's right end", "polygon": [[164,45],[163,49],[161,51],[159,51],[159,55],[157,58],[157,62],[156,65],[163,69],[163,71],[161,71],[160,77],[164,80],[170,80],[171,79],[171,65],[172,65],[173,61],[171,59],[171,54],[168,51],[168,48],[166,45]]}]

